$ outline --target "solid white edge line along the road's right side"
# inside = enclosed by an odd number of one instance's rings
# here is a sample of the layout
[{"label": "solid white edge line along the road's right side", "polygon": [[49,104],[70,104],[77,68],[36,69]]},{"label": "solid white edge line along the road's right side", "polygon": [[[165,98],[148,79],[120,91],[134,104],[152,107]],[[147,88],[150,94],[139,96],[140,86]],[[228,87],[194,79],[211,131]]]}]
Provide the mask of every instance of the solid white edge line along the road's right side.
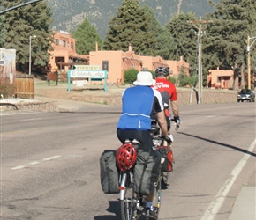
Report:
[{"label": "solid white edge line along the road's right side", "polygon": [[[248,152],[252,152],[256,144],[256,139],[252,142],[251,146],[248,148]],[[245,156],[238,162],[236,167],[230,173],[230,178],[225,182],[225,184],[221,187],[219,192],[215,195],[214,200],[209,204],[206,212],[201,217],[200,220],[213,220],[215,216],[218,214],[219,210],[222,207],[223,202],[226,199],[227,194],[230,192],[230,188],[234,184],[235,180],[237,180],[237,176],[243,170],[248,158],[250,158],[250,154],[246,153]]]}]

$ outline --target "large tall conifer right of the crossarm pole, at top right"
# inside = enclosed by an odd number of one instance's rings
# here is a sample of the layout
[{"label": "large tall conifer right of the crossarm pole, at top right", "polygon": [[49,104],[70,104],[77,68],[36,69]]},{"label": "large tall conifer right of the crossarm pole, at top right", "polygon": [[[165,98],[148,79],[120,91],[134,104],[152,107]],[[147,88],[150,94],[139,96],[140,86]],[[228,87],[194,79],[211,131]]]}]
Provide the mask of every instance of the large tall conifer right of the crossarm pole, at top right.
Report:
[{"label": "large tall conifer right of the crossarm pole, at top right", "polygon": [[239,72],[243,77],[245,70],[247,35],[256,33],[256,16],[252,13],[256,11],[256,3],[254,0],[221,0],[219,4],[211,4],[215,11],[208,15],[213,23],[207,28],[203,62],[207,70],[217,66],[235,70],[233,89],[237,90]]}]

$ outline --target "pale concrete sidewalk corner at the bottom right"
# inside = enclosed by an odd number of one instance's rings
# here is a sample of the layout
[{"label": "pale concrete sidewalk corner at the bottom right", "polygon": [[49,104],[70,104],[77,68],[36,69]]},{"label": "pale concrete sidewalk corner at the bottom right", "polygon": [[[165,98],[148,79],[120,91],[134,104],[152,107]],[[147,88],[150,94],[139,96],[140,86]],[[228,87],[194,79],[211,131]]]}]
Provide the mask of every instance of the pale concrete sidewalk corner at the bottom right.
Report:
[{"label": "pale concrete sidewalk corner at the bottom right", "polygon": [[242,187],[229,220],[256,219],[256,187]]}]

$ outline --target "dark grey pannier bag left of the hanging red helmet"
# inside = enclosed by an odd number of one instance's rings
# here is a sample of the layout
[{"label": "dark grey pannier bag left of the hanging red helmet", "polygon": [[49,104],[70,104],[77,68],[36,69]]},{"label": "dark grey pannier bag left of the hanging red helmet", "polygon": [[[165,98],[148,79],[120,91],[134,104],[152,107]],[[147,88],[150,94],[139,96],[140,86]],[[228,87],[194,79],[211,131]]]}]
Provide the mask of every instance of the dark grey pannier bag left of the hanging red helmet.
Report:
[{"label": "dark grey pannier bag left of the hanging red helmet", "polygon": [[101,184],[105,194],[119,194],[116,153],[117,150],[104,150],[100,158]]}]

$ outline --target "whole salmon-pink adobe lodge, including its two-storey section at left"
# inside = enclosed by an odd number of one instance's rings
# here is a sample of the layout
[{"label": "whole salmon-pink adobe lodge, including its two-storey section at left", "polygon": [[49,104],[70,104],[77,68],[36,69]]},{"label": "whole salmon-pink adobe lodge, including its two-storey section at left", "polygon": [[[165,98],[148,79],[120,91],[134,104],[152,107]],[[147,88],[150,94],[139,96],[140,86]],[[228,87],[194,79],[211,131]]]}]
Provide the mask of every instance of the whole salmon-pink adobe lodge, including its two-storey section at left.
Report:
[{"label": "whole salmon-pink adobe lodge, including its two-storey section at left", "polygon": [[[95,43],[95,51],[89,55],[78,55],[76,53],[76,40],[69,33],[54,33],[54,50],[50,52],[49,67],[53,72],[58,70],[60,74],[66,74],[69,65],[100,65],[102,70],[108,71],[108,84],[123,84],[124,71],[135,70],[152,70],[159,66],[169,67],[171,77],[177,77],[181,70],[189,75],[189,63],[184,62],[183,57],[179,61],[163,60],[161,56],[142,56],[136,55],[132,51],[132,46],[127,47],[128,51],[99,51],[98,44]],[[87,79],[88,84],[102,84],[102,82],[91,82]]]}]

